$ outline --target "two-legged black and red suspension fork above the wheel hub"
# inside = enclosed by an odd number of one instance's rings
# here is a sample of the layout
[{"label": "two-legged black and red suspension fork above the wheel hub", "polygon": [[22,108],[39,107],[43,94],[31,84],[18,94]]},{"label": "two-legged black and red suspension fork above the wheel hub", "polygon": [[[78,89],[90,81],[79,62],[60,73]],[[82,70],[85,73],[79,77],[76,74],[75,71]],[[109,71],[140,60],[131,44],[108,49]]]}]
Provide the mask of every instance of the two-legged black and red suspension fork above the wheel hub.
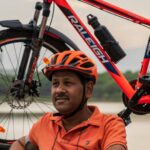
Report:
[{"label": "two-legged black and red suspension fork above the wheel hub", "polygon": [[47,19],[48,19],[49,13],[50,13],[50,4],[49,3],[43,3],[43,14],[42,14],[43,18],[42,18],[42,22],[40,25],[39,35],[37,37],[36,36],[37,21],[38,21],[40,10],[41,10],[41,7],[39,7],[39,6],[40,5],[36,5],[36,11],[35,11],[33,22],[32,22],[32,24],[34,26],[34,31],[33,31],[34,33],[33,33],[33,37],[32,37],[32,42],[30,45],[27,45],[25,47],[23,59],[22,59],[21,66],[19,68],[19,74],[18,74],[18,79],[22,80],[24,77],[24,74],[25,74],[24,68],[27,67],[29,55],[31,53],[31,49],[33,49],[31,59],[29,62],[29,67],[27,70],[27,76],[26,76],[26,83],[27,84],[30,84],[32,82],[33,74],[34,74],[34,71],[36,68],[40,49],[42,46],[42,41],[43,41],[43,36],[44,36],[45,28],[46,28]]}]

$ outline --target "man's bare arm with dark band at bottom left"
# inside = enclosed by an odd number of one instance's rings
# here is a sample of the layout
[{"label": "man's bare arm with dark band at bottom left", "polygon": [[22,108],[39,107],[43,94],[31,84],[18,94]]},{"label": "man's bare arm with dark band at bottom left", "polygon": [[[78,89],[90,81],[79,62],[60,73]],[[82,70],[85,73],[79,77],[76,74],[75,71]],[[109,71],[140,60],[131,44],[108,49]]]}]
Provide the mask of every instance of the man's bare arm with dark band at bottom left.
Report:
[{"label": "man's bare arm with dark band at bottom left", "polygon": [[12,144],[10,150],[38,150],[38,147],[30,141],[26,142],[25,137],[22,137]]}]

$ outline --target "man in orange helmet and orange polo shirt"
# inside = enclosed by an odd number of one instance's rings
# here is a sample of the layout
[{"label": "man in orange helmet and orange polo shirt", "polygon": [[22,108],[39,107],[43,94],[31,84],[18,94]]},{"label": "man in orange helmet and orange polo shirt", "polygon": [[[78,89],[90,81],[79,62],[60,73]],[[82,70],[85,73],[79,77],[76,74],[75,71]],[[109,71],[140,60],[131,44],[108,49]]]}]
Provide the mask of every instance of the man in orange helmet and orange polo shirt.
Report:
[{"label": "man in orange helmet and orange polo shirt", "polygon": [[121,118],[88,106],[97,68],[81,51],[56,53],[43,69],[58,113],[46,113],[11,150],[127,150]]}]

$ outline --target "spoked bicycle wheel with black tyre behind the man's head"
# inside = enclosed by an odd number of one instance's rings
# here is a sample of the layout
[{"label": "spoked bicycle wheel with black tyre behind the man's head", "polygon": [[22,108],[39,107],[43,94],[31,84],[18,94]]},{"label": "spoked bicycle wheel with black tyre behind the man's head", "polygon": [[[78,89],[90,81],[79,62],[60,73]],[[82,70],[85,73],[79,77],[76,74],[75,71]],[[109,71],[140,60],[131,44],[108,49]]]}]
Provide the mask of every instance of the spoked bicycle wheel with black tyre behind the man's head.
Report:
[{"label": "spoked bicycle wheel with black tyre behind the man's head", "polygon": [[50,57],[58,51],[69,50],[72,46],[60,39],[45,37],[33,76],[40,97],[26,94],[18,99],[12,94],[11,86],[17,78],[24,46],[31,42],[31,37],[31,31],[8,29],[0,32],[0,125],[6,130],[5,133],[0,133],[0,139],[14,140],[26,135],[43,113],[54,111],[49,96],[50,83],[41,73],[44,67],[42,58]]}]

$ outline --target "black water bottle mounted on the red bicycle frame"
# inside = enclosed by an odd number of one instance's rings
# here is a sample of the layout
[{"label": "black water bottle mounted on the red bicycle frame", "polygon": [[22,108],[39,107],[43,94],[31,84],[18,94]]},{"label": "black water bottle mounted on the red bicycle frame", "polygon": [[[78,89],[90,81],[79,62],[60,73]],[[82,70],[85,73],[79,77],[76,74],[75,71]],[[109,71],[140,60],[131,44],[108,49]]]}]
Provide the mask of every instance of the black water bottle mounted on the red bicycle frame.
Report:
[{"label": "black water bottle mounted on the red bicycle frame", "polygon": [[88,23],[94,29],[94,34],[99,40],[100,44],[107,52],[109,57],[114,63],[117,63],[121,60],[126,54],[123,49],[120,47],[119,43],[114,39],[112,34],[108,29],[101,25],[96,16],[88,15]]}]

